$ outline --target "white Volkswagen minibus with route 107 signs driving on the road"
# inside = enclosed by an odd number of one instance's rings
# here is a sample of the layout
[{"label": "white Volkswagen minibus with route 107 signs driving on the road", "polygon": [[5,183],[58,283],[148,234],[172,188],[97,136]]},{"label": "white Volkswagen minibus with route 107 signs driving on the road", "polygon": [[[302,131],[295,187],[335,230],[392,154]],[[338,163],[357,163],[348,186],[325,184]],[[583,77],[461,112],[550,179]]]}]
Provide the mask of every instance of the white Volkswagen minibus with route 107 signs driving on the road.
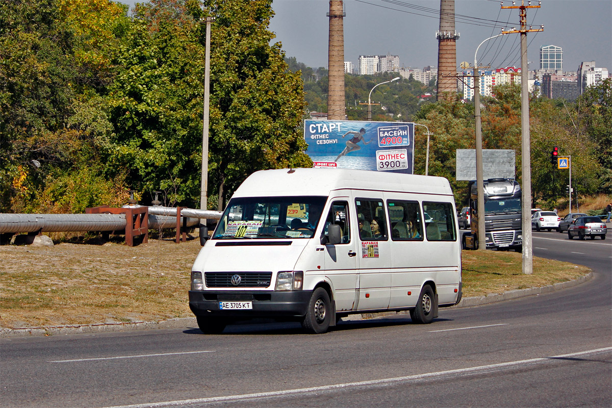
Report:
[{"label": "white Volkswagen minibus with route 107 signs driving on the road", "polygon": [[324,333],[356,313],[430,323],[461,299],[447,179],[350,169],[258,171],[236,190],[193,264],[204,333],[253,318]]}]

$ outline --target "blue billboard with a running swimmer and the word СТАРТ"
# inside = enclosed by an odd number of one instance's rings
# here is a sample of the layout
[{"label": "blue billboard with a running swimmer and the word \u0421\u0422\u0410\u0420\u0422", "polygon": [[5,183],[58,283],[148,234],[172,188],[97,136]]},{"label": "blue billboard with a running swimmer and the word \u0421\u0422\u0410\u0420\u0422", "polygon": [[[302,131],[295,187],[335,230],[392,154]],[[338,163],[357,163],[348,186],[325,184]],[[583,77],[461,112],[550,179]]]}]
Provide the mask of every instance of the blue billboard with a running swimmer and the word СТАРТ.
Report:
[{"label": "blue billboard with a running swimmer and the word \u0421\u0422\u0410\u0420\u0422", "polygon": [[315,167],[414,170],[414,123],[304,121],[306,153]]}]

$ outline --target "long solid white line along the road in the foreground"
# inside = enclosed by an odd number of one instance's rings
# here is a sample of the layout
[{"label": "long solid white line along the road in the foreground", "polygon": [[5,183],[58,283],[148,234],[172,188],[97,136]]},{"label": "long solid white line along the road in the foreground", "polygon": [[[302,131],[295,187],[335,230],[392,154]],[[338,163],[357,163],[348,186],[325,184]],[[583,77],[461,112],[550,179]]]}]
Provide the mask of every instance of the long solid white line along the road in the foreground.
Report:
[{"label": "long solid white line along the road in the foreground", "polygon": [[283,396],[283,395],[299,395],[303,393],[313,393],[313,392],[329,391],[329,390],[341,390],[341,389],[351,388],[351,387],[367,387],[369,385],[387,385],[387,384],[391,385],[394,382],[420,380],[420,379],[425,379],[425,378],[447,376],[447,375],[452,375],[452,374],[465,374],[465,373],[470,373],[470,372],[479,371],[479,370],[502,369],[502,368],[511,367],[511,366],[545,362],[547,360],[556,359],[556,358],[577,357],[578,355],[595,354],[595,353],[607,352],[607,351],[612,351],[612,347],[581,351],[581,352],[572,353],[572,354],[553,355],[551,357],[529,358],[528,360],[517,360],[514,362],[507,362],[507,363],[497,363],[497,364],[489,364],[489,365],[476,366],[476,367],[450,369],[447,371],[437,371],[435,373],[416,374],[414,376],[386,378],[386,379],[381,379],[381,380],[347,382],[344,384],[323,385],[321,387],[297,388],[293,390],[269,391],[269,392],[264,392],[264,393],[217,396],[217,397],[211,397],[211,398],[183,399],[183,400],[178,400],[178,401],[166,401],[166,402],[149,402],[145,404],[114,406],[114,407],[106,407],[106,408],[146,408],[146,407],[154,408],[154,407],[179,406],[179,405],[184,405],[184,404],[206,404],[209,402],[236,402],[236,401],[240,401],[241,399],[248,399],[248,398],[266,398],[266,397]]}]

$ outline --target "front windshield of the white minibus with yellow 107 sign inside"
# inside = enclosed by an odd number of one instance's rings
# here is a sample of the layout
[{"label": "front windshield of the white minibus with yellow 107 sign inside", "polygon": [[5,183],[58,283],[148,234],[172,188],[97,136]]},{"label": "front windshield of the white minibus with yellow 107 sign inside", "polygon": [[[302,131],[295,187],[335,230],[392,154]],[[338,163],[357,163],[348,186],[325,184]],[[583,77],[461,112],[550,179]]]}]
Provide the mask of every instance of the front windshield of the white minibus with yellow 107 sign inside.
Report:
[{"label": "front windshield of the white minibus with yellow 107 sign inside", "polygon": [[327,197],[233,198],[212,239],[312,238]]}]

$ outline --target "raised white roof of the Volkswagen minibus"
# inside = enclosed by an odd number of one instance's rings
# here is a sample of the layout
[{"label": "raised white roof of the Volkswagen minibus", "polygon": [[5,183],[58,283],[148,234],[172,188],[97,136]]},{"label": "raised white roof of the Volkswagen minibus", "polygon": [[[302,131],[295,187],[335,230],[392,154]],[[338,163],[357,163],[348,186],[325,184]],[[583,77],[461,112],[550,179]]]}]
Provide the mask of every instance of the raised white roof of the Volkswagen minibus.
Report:
[{"label": "raised white roof of the Volkswagen minibus", "polygon": [[444,177],[371,170],[296,168],[254,172],[244,180],[234,197],[328,196],[330,191],[345,188],[453,194],[449,180]]}]

